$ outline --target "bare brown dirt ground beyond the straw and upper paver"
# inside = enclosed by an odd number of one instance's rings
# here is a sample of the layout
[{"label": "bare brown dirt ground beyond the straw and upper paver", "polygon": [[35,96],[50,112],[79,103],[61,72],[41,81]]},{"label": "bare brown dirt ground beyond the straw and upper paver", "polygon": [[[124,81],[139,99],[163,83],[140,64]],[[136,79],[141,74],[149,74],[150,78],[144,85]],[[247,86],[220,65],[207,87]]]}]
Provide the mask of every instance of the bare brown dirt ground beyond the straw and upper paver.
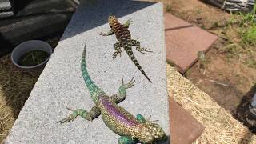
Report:
[{"label": "bare brown dirt ground beyond the straw and upper paver", "polygon": [[[218,42],[206,53],[207,62],[204,68],[199,70],[196,64],[185,76],[209,94],[218,105],[230,110],[234,118],[254,130],[256,125],[254,118],[248,113],[248,103],[256,91],[256,69],[252,58],[255,50],[252,46],[247,46],[246,50],[234,46],[241,42],[238,26],[229,24],[234,15],[231,16],[199,0],[163,2],[166,3],[166,11],[170,14],[218,35]],[[245,115],[248,117],[244,117]]]}]

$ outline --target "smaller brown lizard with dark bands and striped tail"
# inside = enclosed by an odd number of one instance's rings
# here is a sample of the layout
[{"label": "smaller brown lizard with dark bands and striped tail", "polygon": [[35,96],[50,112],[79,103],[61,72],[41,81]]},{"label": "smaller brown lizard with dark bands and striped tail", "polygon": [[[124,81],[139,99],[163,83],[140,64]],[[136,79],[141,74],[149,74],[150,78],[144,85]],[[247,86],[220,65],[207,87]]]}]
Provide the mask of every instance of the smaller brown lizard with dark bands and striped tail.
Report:
[{"label": "smaller brown lizard with dark bands and striped tail", "polygon": [[[142,69],[142,66],[139,65],[138,60],[134,57],[134,53],[132,51],[132,46],[136,46],[136,50],[145,54],[145,52],[152,52],[152,50],[147,48],[141,48],[140,42],[137,40],[131,39],[130,31],[128,27],[130,25],[131,20],[129,19],[125,24],[121,24],[118,22],[118,18],[115,18],[114,15],[110,15],[108,18],[111,30],[108,31],[106,34],[101,33],[102,36],[108,36],[115,34],[118,42],[114,44],[114,49],[116,50],[113,54],[113,59],[120,54],[121,57],[121,48],[123,47],[126,50],[126,53],[129,55],[130,59],[134,62],[135,66],[138,67],[138,70],[142,72],[142,74],[146,77],[147,80],[150,81],[150,78],[146,75],[145,71]],[[151,81],[150,81],[151,82]]]}]

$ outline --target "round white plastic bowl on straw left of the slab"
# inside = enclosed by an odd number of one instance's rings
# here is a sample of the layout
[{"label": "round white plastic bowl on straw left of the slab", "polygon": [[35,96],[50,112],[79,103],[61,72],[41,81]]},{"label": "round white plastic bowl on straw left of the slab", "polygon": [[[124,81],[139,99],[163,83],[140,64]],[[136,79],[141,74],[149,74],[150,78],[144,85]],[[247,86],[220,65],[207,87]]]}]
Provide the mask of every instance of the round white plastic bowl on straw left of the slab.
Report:
[{"label": "round white plastic bowl on straw left of the slab", "polygon": [[[33,50],[45,51],[46,53],[49,54],[49,57],[46,58],[46,60],[44,62],[39,63],[38,65],[35,65],[35,66],[19,65],[18,64],[19,58],[21,58],[23,54],[26,54]],[[30,69],[35,69],[35,68],[38,68],[39,66],[43,66],[44,64],[46,64],[46,62],[49,60],[51,54],[52,54],[52,48],[48,43],[39,41],[39,40],[30,40],[30,41],[22,42],[21,44],[19,44],[18,46],[16,46],[14,48],[13,52],[11,53],[11,61],[14,63],[15,66],[18,66],[21,69],[30,70]]]}]

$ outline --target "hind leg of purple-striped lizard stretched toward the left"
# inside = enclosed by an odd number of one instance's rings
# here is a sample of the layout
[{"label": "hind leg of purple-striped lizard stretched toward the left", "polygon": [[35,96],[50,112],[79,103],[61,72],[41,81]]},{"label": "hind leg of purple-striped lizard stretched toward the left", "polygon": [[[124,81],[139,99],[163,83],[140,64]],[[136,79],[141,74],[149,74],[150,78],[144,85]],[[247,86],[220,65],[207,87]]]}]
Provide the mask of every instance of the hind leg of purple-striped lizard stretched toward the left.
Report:
[{"label": "hind leg of purple-striped lizard stretched toward the left", "polygon": [[78,115],[80,115],[82,118],[88,121],[92,121],[94,118],[97,118],[101,114],[101,111],[99,110],[98,106],[92,107],[90,109],[90,112],[82,109],[77,109],[77,110],[72,110],[70,108],[67,108],[67,109],[73,111],[73,113],[70,114],[67,118],[63,118],[62,120],[58,121],[59,123],[74,121],[74,119],[77,118]]}]

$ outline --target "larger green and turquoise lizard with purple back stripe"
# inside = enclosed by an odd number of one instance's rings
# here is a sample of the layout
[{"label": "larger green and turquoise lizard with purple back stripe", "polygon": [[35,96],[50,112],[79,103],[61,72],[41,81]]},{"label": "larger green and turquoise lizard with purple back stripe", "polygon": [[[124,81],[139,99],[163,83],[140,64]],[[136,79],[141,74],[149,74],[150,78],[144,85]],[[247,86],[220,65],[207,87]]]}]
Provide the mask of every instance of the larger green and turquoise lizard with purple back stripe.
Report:
[{"label": "larger green and turquoise lizard with purple back stripe", "polygon": [[[118,139],[119,144],[166,141],[166,134],[158,124],[146,120],[141,114],[138,114],[137,118],[135,118],[124,108],[118,106],[117,103],[122,102],[126,98],[126,89],[134,86],[134,78],[127,84],[122,81],[118,94],[114,94],[111,97],[107,96],[103,90],[94,84],[86,70],[86,46],[82,54],[81,69],[82,76],[95,106],[90,111],[82,109],[72,110],[73,114],[59,121],[60,123],[74,121],[78,115],[88,121],[92,121],[102,114],[102,119],[106,126],[121,136]],[[68,108],[68,110],[71,109]]]}]

